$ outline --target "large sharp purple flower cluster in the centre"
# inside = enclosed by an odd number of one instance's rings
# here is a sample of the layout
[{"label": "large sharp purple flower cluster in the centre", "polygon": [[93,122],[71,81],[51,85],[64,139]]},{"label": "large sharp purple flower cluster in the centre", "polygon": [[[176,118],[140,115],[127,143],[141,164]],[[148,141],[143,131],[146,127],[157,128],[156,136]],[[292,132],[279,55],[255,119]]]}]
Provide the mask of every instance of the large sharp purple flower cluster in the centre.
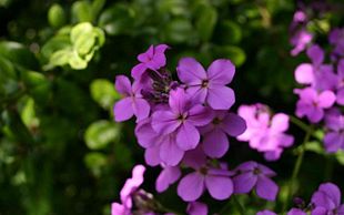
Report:
[{"label": "large sharp purple flower cluster in the centre", "polygon": [[[235,73],[233,63],[220,59],[205,70],[195,59],[182,58],[176,66],[179,80],[174,80],[166,69],[168,49],[152,45],[139,54],[140,63],[131,71],[133,83],[124,75],[115,80],[123,99],[114,105],[114,120],[135,116],[135,136],[145,150],[146,164],[162,167],[156,191],[164,192],[180,181],[176,192],[189,203],[189,214],[208,213],[206,205],[196,202],[205,191],[223,201],[233,193],[255,190],[257,196],[274,201],[279,186],[271,180],[272,170],[246,162],[230,171],[217,161],[229,151],[229,136],[246,130],[245,120],[230,111],[235,102],[234,91],[227,86]],[[182,168],[189,170],[185,175]]]}]

